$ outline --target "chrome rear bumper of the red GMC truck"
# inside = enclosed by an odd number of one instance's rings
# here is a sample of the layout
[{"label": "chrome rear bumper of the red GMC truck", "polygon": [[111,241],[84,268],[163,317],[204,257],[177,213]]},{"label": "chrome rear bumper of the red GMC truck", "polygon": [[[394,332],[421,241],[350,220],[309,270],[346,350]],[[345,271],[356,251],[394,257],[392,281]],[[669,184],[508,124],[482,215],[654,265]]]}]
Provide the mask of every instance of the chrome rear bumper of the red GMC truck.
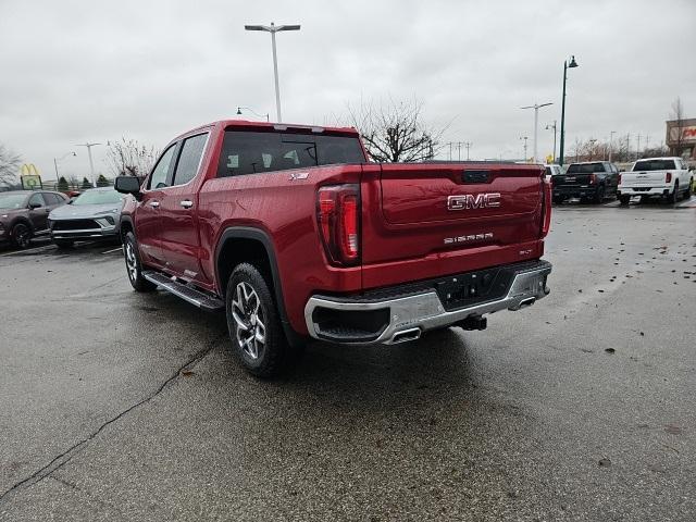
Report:
[{"label": "chrome rear bumper of the red GMC truck", "polygon": [[[550,263],[536,261],[532,264],[522,264],[520,269],[510,265],[510,270],[514,271],[513,276],[502,297],[455,310],[446,310],[434,287],[412,295],[376,300],[365,299],[361,296],[355,298],[312,296],[304,307],[307,328],[309,334],[316,339],[355,345],[390,345],[413,340],[420,337],[423,332],[449,326],[467,318],[481,316],[498,310],[520,310],[548,295],[546,278],[551,272]],[[320,313],[326,313],[326,311],[373,312],[375,314],[382,312],[382,316],[385,319],[381,327],[372,332],[372,335],[365,335],[365,332],[358,335],[355,334],[355,330],[351,333],[350,328],[341,328],[340,326],[322,330],[319,322],[315,321],[318,318],[315,312],[318,311],[321,311]]]}]

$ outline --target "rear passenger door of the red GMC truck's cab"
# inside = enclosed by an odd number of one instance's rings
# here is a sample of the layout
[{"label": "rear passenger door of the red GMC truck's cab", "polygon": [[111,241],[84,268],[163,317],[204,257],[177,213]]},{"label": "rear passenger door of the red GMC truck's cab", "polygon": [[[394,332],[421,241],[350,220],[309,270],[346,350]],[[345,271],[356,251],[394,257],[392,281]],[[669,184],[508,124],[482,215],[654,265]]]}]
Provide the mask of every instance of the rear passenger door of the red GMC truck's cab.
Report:
[{"label": "rear passenger door of the red GMC truck's cab", "polygon": [[176,153],[171,186],[160,198],[160,232],[165,269],[185,279],[207,283],[200,270],[198,184],[209,133],[184,138]]}]

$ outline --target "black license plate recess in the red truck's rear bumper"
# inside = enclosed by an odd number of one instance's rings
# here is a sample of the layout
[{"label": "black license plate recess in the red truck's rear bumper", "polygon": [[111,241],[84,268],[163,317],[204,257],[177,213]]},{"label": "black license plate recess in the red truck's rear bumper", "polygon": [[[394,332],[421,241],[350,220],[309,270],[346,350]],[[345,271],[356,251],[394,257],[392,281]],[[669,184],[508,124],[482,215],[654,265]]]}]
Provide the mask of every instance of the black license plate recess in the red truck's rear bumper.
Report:
[{"label": "black license plate recess in the red truck's rear bumper", "polygon": [[512,274],[501,269],[488,269],[447,277],[435,283],[435,290],[445,310],[457,310],[478,302],[504,297]]}]

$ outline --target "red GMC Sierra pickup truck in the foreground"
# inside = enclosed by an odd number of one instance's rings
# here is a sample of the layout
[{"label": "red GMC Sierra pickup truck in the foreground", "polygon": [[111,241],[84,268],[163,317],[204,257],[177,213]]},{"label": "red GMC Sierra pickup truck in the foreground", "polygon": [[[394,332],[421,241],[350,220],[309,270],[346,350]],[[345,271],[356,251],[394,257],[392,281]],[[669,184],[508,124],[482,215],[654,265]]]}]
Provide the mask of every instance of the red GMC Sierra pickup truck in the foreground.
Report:
[{"label": "red GMC Sierra pickup truck in the foreground", "polygon": [[313,337],[395,344],[548,294],[550,187],[538,165],[378,164],[355,128],[222,121],[162,152],[130,194],[130,284],[225,310],[270,377]]}]

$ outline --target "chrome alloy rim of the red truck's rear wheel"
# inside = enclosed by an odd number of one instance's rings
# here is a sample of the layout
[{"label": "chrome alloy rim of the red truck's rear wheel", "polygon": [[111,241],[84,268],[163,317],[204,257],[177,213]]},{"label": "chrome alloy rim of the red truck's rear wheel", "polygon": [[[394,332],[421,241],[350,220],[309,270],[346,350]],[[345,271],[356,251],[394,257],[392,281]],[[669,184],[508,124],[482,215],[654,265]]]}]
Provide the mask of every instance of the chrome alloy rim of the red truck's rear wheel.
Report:
[{"label": "chrome alloy rim of the red truck's rear wheel", "polygon": [[235,288],[232,316],[237,324],[239,347],[251,359],[259,359],[265,348],[265,324],[261,300],[248,283],[239,283]]}]

